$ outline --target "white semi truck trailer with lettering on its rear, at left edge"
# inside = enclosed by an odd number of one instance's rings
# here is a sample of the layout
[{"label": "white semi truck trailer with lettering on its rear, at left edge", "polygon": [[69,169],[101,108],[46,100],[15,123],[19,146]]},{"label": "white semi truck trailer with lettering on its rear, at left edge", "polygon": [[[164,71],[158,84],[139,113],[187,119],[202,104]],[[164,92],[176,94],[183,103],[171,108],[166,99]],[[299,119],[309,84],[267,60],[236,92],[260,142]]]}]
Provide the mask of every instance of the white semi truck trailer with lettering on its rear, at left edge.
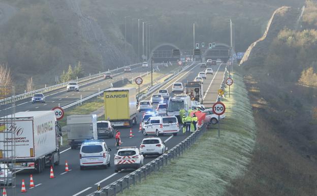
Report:
[{"label": "white semi truck trailer with lettering on its rear, at left edge", "polygon": [[0,127],[4,132],[0,141],[7,141],[6,146],[0,144],[0,160],[11,158],[8,150],[15,146],[16,170],[33,169],[41,173],[45,166],[59,164],[61,128],[54,111],[22,111],[1,117]]}]

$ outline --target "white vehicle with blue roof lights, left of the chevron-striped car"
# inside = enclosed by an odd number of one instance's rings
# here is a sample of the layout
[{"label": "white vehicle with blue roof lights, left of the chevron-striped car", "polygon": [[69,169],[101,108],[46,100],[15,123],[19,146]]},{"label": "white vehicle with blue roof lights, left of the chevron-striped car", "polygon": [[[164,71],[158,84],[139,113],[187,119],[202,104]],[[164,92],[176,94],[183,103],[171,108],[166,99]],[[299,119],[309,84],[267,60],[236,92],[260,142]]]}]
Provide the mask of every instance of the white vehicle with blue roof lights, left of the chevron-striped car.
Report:
[{"label": "white vehicle with blue roof lights, left of the chevron-striped car", "polygon": [[80,170],[86,166],[110,167],[110,148],[102,140],[85,141],[79,151]]}]

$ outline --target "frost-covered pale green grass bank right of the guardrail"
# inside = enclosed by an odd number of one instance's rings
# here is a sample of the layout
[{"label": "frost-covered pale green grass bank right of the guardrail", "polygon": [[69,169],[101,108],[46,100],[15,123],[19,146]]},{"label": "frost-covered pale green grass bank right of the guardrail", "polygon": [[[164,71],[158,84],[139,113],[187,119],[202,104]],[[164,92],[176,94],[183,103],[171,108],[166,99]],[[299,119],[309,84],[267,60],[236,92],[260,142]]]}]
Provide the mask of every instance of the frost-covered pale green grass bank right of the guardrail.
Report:
[{"label": "frost-covered pale green grass bank right of the guardrail", "polygon": [[122,195],[222,195],[230,180],[243,175],[255,146],[256,126],[247,91],[240,75],[233,75],[226,119],[220,122],[220,138],[214,125],[199,142],[168,167]]}]

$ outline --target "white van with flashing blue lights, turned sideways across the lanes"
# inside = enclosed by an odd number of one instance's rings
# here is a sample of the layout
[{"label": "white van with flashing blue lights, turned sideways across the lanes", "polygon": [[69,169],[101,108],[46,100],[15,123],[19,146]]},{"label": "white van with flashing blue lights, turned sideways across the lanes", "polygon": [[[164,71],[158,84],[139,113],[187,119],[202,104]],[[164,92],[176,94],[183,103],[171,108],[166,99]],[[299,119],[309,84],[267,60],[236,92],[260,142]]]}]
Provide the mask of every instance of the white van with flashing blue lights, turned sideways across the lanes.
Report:
[{"label": "white van with flashing blue lights, turned sideways across the lanes", "polygon": [[144,136],[148,134],[155,134],[156,136],[162,134],[177,135],[179,131],[178,120],[175,116],[157,116],[150,117],[143,126],[142,133]]}]

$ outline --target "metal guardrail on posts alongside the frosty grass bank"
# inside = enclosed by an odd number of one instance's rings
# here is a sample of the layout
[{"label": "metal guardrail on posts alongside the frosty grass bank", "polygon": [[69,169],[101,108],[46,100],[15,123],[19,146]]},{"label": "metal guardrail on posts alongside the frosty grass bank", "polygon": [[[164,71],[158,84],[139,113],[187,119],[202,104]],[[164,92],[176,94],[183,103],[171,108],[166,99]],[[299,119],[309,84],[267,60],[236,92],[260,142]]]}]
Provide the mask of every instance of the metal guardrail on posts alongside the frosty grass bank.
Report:
[{"label": "metal guardrail on posts alongside the frosty grass bank", "polygon": [[207,126],[206,124],[203,124],[167,153],[143,165],[138,170],[101,188],[101,190],[97,190],[93,193],[88,194],[87,196],[116,196],[117,193],[122,193],[124,189],[129,189],[131,184],[135,186],[137,181],[140,183],[142,179],[146,180],[146,177],[151,175],[152,172],[160,171],[163,167],[166,167],[174,158],[182,155],[184,151],[188,150],[193,144],[197,142],[199,137],[202,136],[206,130]]}]

